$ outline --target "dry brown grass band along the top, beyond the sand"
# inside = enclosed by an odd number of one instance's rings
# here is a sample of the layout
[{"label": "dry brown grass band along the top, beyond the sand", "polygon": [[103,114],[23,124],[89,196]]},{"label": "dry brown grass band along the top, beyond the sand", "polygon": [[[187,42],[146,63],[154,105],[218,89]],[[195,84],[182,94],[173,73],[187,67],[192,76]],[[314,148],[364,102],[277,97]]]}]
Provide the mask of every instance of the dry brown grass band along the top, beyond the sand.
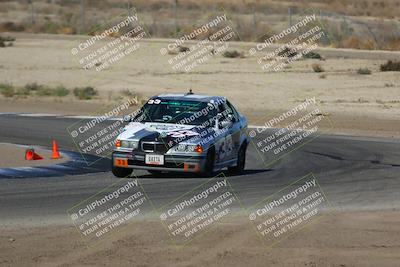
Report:
[{"label": "dry brown grass band along the top, beyond the sand", "polygon": [[[90,33],[95,28],[102,29],[103,22],[127,14],[130,2],[129,7],[136,8],[140,21],[153,37],[175,38],[193,31],[217,14],[226,13],[239,35],[235,40],[262,42],[288,26],[290,7],[293,21],[305,12],[310,13],[310,8],[315,10],[329,36],[329,41],[325,40],[323,45],[400,49],[400,2],[397,0],[185,0],[178,1],[176,9],[174,0],[86,0],[85,29],[82,29],[79,1],[52,2],[34,1],[32,22],[26,1],[0,1],[0,32]],[[199,38],[207,38],[210,34],[212,32]]]}]

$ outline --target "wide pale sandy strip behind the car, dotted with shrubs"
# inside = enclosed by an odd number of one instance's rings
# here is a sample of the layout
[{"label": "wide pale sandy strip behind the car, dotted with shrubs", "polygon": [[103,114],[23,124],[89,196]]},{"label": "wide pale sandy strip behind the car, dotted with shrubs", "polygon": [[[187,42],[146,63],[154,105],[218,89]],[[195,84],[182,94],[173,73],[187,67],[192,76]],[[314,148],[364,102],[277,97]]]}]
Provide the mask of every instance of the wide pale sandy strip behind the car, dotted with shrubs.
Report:
[{"label": "wide pale sandy strip behind the car, dotted with shrubs", "polygon": [[[245,52],[245,58],[217,55],[189,73],[169,65],[173,55],[160,55],[171,40],[140,42],[140,48],[110,69],[83,70],[71,48],[85,36],[13,34],[13,47],[0,49],[0,82],[24,86],[36,82],[48,86],[93,86],[100,92],[96,100],[71,97],[0,97],[0,112],[98,114],[104,107],[116,106],[121,91],[129,89],[147,98],[160,93],[223,95],[231,100],[250,124],[262,125],[270,114],[289,110],[305,98],[316,97],[321,109],[334,124],[332,133],[400,138],[400,75],[381,72],[388,59],[399,59],[400,52],[320,48],[325,61],[299,60],[281,72],[265,72],[255,57],[246,54],[252,43],[230,44],[229,49]],[[320,64],[325,72],[314,73]],[[357,74],[369,68],[371,75]],[[321,75],[322,78],[321,78]]]}]

